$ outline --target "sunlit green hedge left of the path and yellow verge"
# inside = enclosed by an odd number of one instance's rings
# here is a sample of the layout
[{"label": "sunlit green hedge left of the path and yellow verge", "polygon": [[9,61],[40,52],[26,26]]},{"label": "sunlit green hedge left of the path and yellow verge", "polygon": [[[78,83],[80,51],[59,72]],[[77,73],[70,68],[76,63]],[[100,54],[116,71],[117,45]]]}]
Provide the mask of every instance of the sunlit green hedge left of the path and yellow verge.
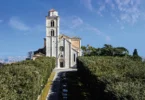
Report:
[{"label": "sunlit green hedge left of the path and yellow verge", "polygon": [[49,57],[4,65],[0,69],[0,99],[36,100],[54,67],[55,59]]}]

